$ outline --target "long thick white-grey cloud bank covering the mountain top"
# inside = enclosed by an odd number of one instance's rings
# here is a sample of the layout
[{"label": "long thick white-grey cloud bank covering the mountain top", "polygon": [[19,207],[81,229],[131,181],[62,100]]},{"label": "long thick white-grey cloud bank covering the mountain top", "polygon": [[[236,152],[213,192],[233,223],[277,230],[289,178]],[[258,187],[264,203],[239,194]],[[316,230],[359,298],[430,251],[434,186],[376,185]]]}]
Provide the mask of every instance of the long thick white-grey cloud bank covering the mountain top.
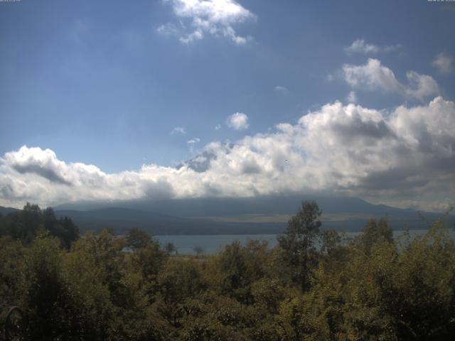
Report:
[{"label": "long thick white-grey cloud bank covering the mountain top", "polygon": [[276,128],[208,144],[198,168],[151,164],[108,174],[23,146],[0,158],[0,205],[320,191],[388,202],[425,202],[431,193],[454,201],[455,102],[437,97],[391,112],[335,102]]}]

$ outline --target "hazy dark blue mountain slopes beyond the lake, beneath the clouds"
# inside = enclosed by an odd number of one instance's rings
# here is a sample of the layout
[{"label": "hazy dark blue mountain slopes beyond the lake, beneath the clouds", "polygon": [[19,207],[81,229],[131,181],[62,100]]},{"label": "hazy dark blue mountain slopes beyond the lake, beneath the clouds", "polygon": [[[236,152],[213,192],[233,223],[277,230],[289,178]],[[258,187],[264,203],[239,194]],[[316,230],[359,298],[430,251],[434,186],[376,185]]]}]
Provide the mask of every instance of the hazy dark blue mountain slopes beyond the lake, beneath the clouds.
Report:
[{"label": "hazy dark blue mountain slopes beyond the lake, beneath the clouds", "polygon": [[[380,217],[385,217],[393,229],[426,229],[441,216],[423,212],[425,221],[415,210],[373,205],[358,197],[299,195],[77,202],[55,207],[55,214],[71,217],[82,231],[114,227],[124,233],[130,227],[139,227],[153,234],[265,234],[282,232],[301,200],[312,199],[323,211],[325,229],[358,231],[370,218]],[[454,222],[454,215],[446,217],[449,226]]]}]

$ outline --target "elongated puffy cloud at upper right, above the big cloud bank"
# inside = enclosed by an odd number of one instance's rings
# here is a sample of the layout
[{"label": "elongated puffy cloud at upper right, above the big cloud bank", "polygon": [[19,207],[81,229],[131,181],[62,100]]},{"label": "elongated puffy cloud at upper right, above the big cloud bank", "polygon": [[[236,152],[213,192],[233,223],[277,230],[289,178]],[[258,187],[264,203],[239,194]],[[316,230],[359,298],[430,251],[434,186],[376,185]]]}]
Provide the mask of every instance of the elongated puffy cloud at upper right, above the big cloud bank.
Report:
[{"label": "elongated puffy cloud at upper right, above the big cloud bank", "polygon": [[439,86],[433,77],[408,71],[406,73],[407,85],[403,85],[390,68],[374,58],[369,58],[365,65],[343,65],[343,77],[348,85],[355,89],[393,92],[420,101],[439,94]]}]

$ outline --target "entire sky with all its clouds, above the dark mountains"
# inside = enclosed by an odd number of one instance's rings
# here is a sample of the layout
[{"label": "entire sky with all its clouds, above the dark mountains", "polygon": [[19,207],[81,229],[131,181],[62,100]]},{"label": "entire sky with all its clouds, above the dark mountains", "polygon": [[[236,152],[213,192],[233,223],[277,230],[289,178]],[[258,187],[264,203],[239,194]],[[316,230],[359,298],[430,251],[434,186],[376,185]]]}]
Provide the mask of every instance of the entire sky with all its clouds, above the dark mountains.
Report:
[{"label": "entire sky with all its clouds, above the dark mountains", "polygon": [[455,202],[453,1],[2,1],[0,205]]}]

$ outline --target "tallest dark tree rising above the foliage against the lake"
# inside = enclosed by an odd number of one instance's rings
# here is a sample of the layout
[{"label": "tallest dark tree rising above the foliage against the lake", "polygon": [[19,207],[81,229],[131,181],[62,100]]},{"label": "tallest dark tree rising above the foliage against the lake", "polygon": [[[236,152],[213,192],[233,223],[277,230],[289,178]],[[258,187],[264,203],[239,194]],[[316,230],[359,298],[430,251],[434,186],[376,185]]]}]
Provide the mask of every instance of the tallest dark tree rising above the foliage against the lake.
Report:
[{"label": "tallest dark tree rising above the foliage against the lake", "polygon": [[285,259],[294,266],[294,280],[300,284],[301,291],[305,291],[308,284],[309,263],[316,251],[321,214],[315,201],[301,202],[301,208],[289,220],[286,231],[277,238]]}]

